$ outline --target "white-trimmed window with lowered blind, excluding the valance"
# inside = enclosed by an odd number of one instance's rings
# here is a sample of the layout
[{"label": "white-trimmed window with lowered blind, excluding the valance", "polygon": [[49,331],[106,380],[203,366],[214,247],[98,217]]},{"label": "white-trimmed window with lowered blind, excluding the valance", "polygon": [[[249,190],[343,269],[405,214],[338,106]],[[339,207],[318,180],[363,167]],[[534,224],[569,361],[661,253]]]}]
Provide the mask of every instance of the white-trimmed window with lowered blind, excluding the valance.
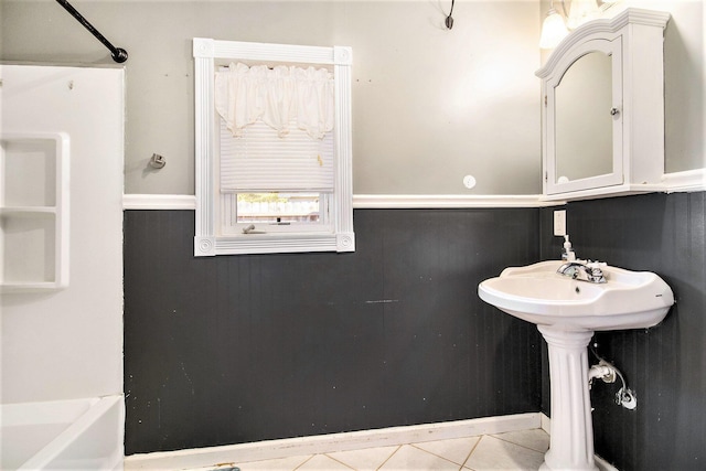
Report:
[{"label": "white-trimmed window with lowered blind, excluding the valance", "polygon": [[[193,52],[194,255],[353,251],[351,50],[196,38]],[[234,125],[217,72],[261,65],[332,75],[331,131],[295,121],[280,122],[285,131],[263,120]]]}]

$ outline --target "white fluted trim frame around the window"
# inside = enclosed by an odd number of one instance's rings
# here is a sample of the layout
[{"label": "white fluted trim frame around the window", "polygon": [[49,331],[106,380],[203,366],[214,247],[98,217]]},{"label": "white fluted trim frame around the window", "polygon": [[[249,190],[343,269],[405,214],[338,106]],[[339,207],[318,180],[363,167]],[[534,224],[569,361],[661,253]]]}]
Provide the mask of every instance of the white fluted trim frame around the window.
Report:
[{"label": "white fluted trim frame around the window", "polygon": [[[351,140],[350,47],[245,43],[194,38],[195,191],[194,256],[276,254],[298,251],[354,251],[353,168]],[[216,58],[333,65],[335,83],[335,190],[331,207],[333,231],[220,236],[216,233],[217,169],[214,109]]]}]

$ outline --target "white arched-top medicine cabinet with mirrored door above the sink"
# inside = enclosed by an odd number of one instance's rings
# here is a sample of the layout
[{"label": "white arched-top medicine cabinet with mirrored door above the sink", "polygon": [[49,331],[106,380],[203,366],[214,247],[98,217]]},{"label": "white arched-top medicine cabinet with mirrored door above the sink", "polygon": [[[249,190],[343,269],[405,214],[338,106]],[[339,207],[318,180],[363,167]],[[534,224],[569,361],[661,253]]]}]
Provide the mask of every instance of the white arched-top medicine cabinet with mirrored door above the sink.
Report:
[{"label": "white arched-top medicine cabinet with mirrored door above the sink", "polygon": [[545,200],[660,191],[668,19],[629,8],[589,21],[536,72]]}]

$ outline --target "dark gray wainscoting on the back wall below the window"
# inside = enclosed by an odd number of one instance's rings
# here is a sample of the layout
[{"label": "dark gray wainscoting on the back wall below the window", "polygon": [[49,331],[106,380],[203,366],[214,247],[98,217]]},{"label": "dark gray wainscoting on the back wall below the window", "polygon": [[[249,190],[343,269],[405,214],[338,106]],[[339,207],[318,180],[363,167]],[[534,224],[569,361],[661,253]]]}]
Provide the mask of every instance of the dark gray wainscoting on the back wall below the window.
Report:
[{"label": "dark gray wainscoting on the back wall below the window", "polygon": [[538,411],[541,339],[477,286],[539,210],[356,210],[352,254],[193,257],[126,211],[126,453]]}]

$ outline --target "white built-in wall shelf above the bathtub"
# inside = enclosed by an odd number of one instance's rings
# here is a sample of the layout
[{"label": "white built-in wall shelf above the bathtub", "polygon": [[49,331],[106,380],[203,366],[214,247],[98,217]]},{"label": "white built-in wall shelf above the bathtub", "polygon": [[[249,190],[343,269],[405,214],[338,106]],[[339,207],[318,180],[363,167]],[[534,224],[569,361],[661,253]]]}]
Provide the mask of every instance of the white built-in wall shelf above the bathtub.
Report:
[{"label": "white built-in wall shelf above the bathtub", "polygon": [[0,136],[0,288],[68,285],[68,136]]}]

